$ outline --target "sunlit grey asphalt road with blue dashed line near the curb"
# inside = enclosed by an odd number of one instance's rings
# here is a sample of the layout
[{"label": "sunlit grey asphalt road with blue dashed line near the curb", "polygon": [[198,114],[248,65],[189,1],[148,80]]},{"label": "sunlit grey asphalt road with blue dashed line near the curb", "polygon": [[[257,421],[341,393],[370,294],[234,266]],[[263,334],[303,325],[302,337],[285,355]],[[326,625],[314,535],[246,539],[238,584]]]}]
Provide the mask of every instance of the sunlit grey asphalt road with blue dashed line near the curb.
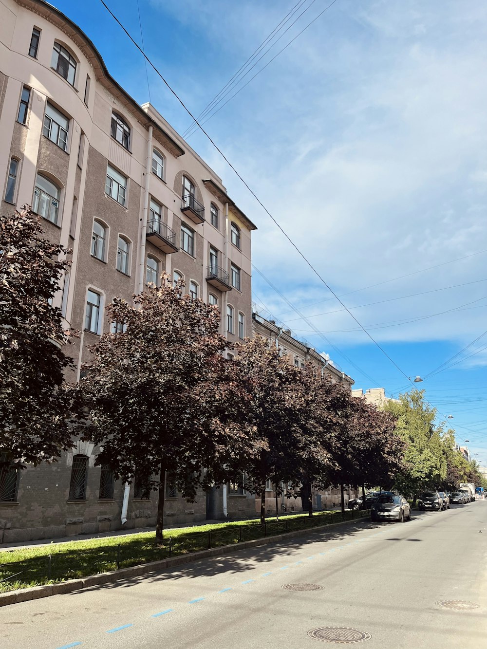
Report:
[{"label": "sunlit grey asphalt road with blue dashed line near the curb", "polygon": [[[15,604],[0,609],[0,647],[338,648],[308,631],[347,627],[364,649],[486,649],[486,528],[487,501],[474,502]],[[282,588],[293,583],[321,589]]]}]

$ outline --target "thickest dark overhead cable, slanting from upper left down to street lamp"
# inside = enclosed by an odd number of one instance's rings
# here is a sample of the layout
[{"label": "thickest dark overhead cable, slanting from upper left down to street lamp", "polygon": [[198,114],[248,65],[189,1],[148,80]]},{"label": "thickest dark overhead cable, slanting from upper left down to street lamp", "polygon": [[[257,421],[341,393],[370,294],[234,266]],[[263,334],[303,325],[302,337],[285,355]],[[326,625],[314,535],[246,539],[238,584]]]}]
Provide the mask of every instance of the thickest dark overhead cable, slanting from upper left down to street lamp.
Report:
[{"label": "thickest dark overhead cable, slanting from upper left down to street lamp", "polygon": [[[275,219],[275,217],[273,217],[273,215],[269,212],[268,208],[266,208],[266,206],[264,205],[264,203],[263,203],[263,202],[258,198],[258,196],[256,195],[255,191],[253,191],[253,190],[251,189],[251,187],[249,186],[249,184],[247,184],[247,182],[243,179],[243,177],[240,175],[240,173],[237,171],[237,169],[234,167],[234,165],[232,165],[232,163],[231,163],[230,160],[227,158],[227,156],[225,156],[225,154],[223,153],[223,151],[221,151],[221,149],[220,149],[220,148],[218,147],[218,145],[214,142],[214,140],[210,137],[210,135],[206,132],[206,130],[203,129],[203,127],[201,126],[201,124],[199,124],[199,122],[197,121],[197,119],[195,119],[195,117],[194,117],[194,115],[192,114],[192,112],[189,110],[189,108],[187,108],[186,104],[184,104],[184,102],[183,102],[182,99],[179,97],[179,95],[175,92],[175,90],[173,90],[173,88],[169,85],[168,81],[167,81],[167,80],[162,76],[162,74],[161,74],[160,71],[157,69],[157,67],[153,64],[153,62],[149,59],[149,57],[148,57],[147,55],[145,55],[144,51],[140,48],[140,45],[138,45],[138,43],[134,40],[134,38],[132,38],[131,34],[129,34],[129,32],[127,31],[127,29],[125,29],[125,27],[122,25],[122,23],[119,21],[119,19],[115,16],[115,14],[110,10],[110,8],[108,8],[108,6],[106,5],[105,1],[104,1],[104,0],[100,0],[100,2],[101,2],[101,4],[106,8],[106,10],[107,10],[108,13],[110,14],[110,16],[112,16],[112,18],[114,19],[114,21],[116,21],[116,23],[119,25],[119,27],[121,27],[121,29],[125,32],[125,34],[127,34],[127,37],[129,38],[129,40],[131,40],[131,42],[135,45],[135,47],[138,49],[138,51],[140,51],[140,53],[144,56],[144,58],[147,60],[147,62],[149,63],[149,65],[154,69],[154,71],[156,72],[156,74],[158,75],[158,77],[160,77],[160,79],[162,80],[162,82],[164,82],[164,85],[168,88],[169,92],[171,92],[171,94],[174,95],[174,97],[177,99],[177,101],[179,102],[179,104],[181,104],[182,108],[184,108],[184,110],[186,110],[186,112],[188,113],[188,115],[189,115],[190,117],[192,117],[192,119],[194,119],[195,123],[197,123],[197,125],[199,126],[199,128],[201,129],[201,131],[203,132],[203,134],[205,134],[206,138],[208,138],[208,140],[210,141],[210,143],[212,143],[212,145],[214,146],[214,148],[216,149],[216,151],[218,151],[218,153],[221,155],[221,157],[223,158],[223,160],[225,160],[225,162],[227,163],[227,165],[229,165],[229,167],[232,169],[232,171],[234,171],[235,175],[236,175],[238,178],[240,178],[240,181],[242,182],[242,184],[247,188],[247,190],[251,193],[251,195],[253,195],[253,197],[255,198],[255,200],[258,202],[258,204],[259,204],[259,205],[262,207],[262,209],[264,210],[264,212],[266,212],[266,214],[268,214],[269,218],[273,221],[273,223],[276,225],[276,227],[279,228],[279,230],[281,230],[281,232],[282,232],[282,234],[284,235],[284,237],[285,237],[286,239],[288,239],[289,243],[290,243],[290,244],[292,245],[292,247],[295,249],[295,251],[297,252],[297,254],[299,254],[299,256],[300,256],[300,257],[305,261],[306,265],[308,265],[308,267],[310,267],[310,269],[312,270],[312,272],[313,272],[313,273],[318,277],[318,279],[320,280],[320,282],[322,282],[323,285],[326,286],[326,288],[327,288],[327,289],[330,291],[330,293],[331,293],[331,294],[336,298],[336,300],[338,300],[338,302],[340,302],[340,304],[342,304],[343,308],[345,308],[345,310],[347,310],[347,312],[349,313],[350,317],[351,317],[351,318],[352,318],[352,319],[353,319],[353,320],[358,324],[358,326],[362,329],[362,331],[364,332],[364,334],[366,334],[366,336],[367,336],[367,337],[370,339],[370,341],[371,341],[371,342],[372,342],[372,343],[377,347],[377,349],[379,349],[379,350],[382,352],[382,354],[383,354],[386,358],[388,358],[388,360],[390,361],[390,363],[392,363],[392,365],[397,369],[397,371],[399,371],[399,373],[401,373],[401,374],[403,374],[403,376],[405,376],[405,378],[410,382],[410,384],[412,385],[412,387],[414,387],[414,389],[418,389],[418,388],[416,387],[416,385],[414,384],[414,382],[412,381],[412,379],[411,379],[411,378],[410,378],[410,377],[405,373],[405,371],[403,371],[403,369],[401,369],[401,367],[399,367],[399,365],[397,365],[397,363],[396,363],[396,362],[391,358],[391,356],[386,352],[386,350],[385,350],[385,349],[384,349],[384,348],[383,348],[383,347],[382,347],[382,346],[381,346],[381,345],[380,345],[380,344],[379,344],[379,343],[378,343],[378,342],[373,338],[373,336],[371,336],[371,334],[369,334],[369,332],[368,332],[368,331],[366,330],[366,328],[365,328],[365,327],[364,327],[364,326],[363,326],[363,325],[358,321],[358,319],[356,319],[355,315],[353,315],[353,313],[351,313],[351,312],[347,309],[347,307],[345,306],[345,304],[343,304],[342,300],[338,297],[338,295],[336,295],[336,293],[333,291],[333,289],[331,288],[331,286],[329,286],[329,284],[327,284],[327,282],[325,281],[325,279],[320,275],[320,273],[319,273],[318,270],[314,267],[314,265],[313,265],[313,264],[308,260],[308,258],[306,258],[305,254],[304,254],[303,252],[301,252],[301,250],[297,247],[297,245],[294,243],[294,241],[290,238],[290,236],[287,234],[287,232],[284,230],[284,228],[282,228],[281,224],[277,221],[277,219]],[[335,2],[336,2],[336,0],[333,0],[333,2],[332,2],[330,5],[328,5],[327,8],[325,8],[325,10],[323,10],[323,12],[326,11],[326,10],[327,10],[330,6],[332,6]],[[322,13],[323,13],[323,12],[322,12]],[[317,18],[318,18],[318,17],[317,17]],[[375,383],[375,381],[374,381],[374,383]],[[419,392],[419,390],[418,390],[418,392]],[[426,400],[426,399],[425,399],[425,400]],[[427,400],[426,400],[426,401],[427,401]],[[429,403],[429,401],[427,401],[427,403]],[[432,408],[434,408],[434,406],[432,406],[432,404],[429,404],[429,405],[430,405]],[[442,413],[440,413],[440,414],[442,414]],[[444,415],[442,415],[442,416],[444,417]]]}]

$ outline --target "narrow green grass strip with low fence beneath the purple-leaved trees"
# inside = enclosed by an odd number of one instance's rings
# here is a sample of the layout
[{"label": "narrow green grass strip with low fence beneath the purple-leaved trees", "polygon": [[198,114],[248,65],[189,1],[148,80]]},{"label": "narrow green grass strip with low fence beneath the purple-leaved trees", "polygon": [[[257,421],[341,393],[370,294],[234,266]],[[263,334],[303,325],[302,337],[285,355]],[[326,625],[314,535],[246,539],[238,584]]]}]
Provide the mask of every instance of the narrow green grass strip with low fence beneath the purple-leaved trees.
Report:
[{"label": "narrow green grass strip with low fence beneath the purple-leaved trees", "polygon": [[[164,541],[155,545],[153,541],[140,541],[134,544],[98,546],[68,552],[53,552],[42,557],[28,557],[20,561],[0,563],[0,593],[19,587],[63,582],[110,570],[120,570],[134,565],[149,563],[198,550],[216,548],[223,545],[237,545],[264,537],[275,536],[297,530],[312,530],[345,520],[361,519],[369,516],[368,509],[358,511],[331,511],[324,515],[297,518],[282,517],[281,520],[266,520],[264,524],[232,525],[221,530],[208,532],[188,532],[181,536],[171,536],[165,532]],[[8,554],[8,551],[6,551]],[[0,561],[1,561],[0,554]]]}]

